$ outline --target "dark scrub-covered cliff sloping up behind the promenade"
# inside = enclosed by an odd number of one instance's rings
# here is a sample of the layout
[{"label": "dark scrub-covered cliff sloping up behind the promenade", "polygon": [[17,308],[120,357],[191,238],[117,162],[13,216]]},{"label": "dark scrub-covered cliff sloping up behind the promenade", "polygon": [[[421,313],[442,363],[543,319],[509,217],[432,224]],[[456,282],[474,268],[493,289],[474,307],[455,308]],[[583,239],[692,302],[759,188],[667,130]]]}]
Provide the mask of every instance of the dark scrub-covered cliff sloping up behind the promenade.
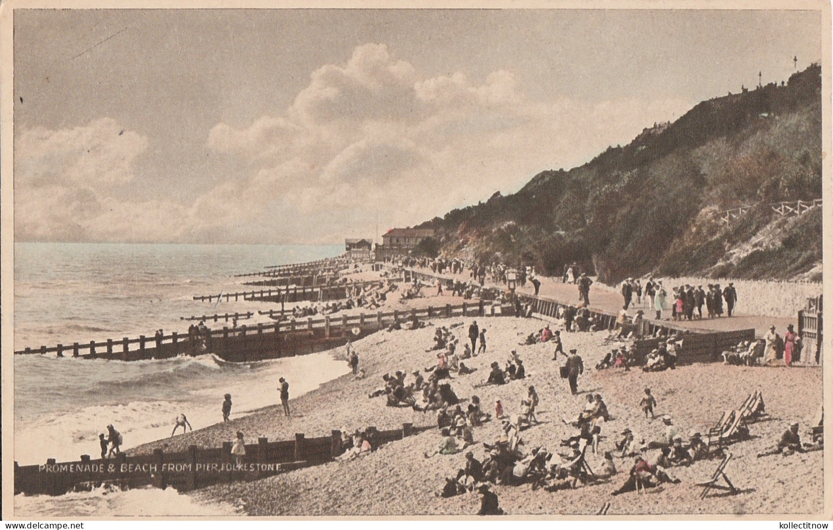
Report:
[{"label": "dark scrub-covered cliff sloping up behind the promenade", "polygon": [[[609,283],[646,273],[806,278],[821,263],[821,209],[781,218],[769,203],[814,198],[818,65],[786,85],[701,102],[578,168],[539,173],[517,193],[418,228],[435,228],[448,255],[546,273],[577,261]],[[757,206],[721,223],[748,204]]]}]

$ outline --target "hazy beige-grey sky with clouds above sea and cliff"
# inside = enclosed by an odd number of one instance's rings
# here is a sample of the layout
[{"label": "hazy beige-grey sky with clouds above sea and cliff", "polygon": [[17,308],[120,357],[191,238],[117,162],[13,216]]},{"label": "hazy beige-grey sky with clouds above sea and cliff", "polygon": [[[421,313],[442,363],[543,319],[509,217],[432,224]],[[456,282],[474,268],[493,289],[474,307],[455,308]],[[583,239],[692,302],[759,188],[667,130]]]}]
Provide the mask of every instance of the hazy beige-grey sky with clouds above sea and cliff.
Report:
[{"label": "hazy beige-grey sky with clouds above sea and cliff", "polygon": [[811,11],[20,10],[16,241],[342,243],[821,60]]}]

